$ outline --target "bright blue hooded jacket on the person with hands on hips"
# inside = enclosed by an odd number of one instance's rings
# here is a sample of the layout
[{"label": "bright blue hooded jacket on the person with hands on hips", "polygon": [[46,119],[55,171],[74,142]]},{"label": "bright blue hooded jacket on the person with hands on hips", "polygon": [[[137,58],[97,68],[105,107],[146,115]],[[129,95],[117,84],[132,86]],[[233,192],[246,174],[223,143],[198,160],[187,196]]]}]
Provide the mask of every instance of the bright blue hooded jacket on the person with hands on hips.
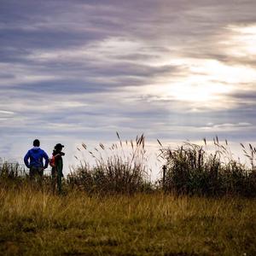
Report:
[{"label": "bright blue hooded jacket on the person with hands on hips", "polygon": [[[45,163],[43,163],[43,159],[45,160]],[[28,162],[28,160],[30,160]],[[30,167],[44,167],[47,168],[49,164],[49,157],[44,152],[43,149],[34,147],[27,151],[25,157],[24,157],[24,163],[27,168]]]}]

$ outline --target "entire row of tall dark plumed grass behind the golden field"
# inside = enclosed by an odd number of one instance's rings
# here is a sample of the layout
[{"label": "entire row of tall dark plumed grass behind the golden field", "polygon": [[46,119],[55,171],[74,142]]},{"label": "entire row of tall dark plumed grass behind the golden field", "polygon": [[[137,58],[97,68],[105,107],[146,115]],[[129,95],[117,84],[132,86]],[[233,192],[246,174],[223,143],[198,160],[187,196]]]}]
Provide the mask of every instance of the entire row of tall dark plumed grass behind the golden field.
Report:
[{"label": "entire row of tall dark plumed grass behind the golden field", "polygon": [[[229,144],[213,139],[209,148],[204,144],[183,143],[177,148],[164,147],[160,141],[160,159],[166,166],[165,177],[156,183],[150,182],[148,154],[145,137],[123,142],[117,133],[118,142],[110,147],[99,144],[90,150],[85,143],[78,148],[78,166],[63,179],[63,191],[80,189],[86,193],[125,193],[153,192],[164,189],[177,195],[242,195],[256,196],[256,148],[241,144],[243,154],[250,166],[236,160]],[[85,157],[86,155],[86,157]],[[90,164],[87,156],[94,160]],[[4,163],[0,166],[0,183],[28,183],[28,178],[18,165]],[[20,173],[23,173],[20,175]],[[41,185],[50,189],[50,177],[44,177]]]}]

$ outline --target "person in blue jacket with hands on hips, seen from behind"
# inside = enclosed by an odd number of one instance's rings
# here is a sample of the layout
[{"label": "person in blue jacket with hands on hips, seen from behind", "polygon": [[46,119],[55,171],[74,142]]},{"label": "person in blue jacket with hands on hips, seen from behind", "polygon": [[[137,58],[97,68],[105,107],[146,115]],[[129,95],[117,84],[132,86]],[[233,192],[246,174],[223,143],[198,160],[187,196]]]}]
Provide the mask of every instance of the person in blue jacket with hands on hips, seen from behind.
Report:
[{"label": "person in blue jacket with hands on hips, seen from behind", "polygon": [[[24,163],[29,168],[30,177],[43,177],[44,169],[48,167],[49,157],[43,149],[39,148],[40,142],[38,139],[34,140],[33,148],[27,151],[24,157]],[[44,159],[44,162],[43,162]]]}]

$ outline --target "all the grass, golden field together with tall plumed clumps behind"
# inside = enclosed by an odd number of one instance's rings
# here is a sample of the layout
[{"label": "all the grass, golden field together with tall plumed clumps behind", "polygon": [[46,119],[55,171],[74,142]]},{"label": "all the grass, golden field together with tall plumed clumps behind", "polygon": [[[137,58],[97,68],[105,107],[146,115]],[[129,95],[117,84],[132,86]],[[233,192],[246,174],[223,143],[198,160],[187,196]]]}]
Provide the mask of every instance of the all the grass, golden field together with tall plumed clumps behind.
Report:
[{"label": "all the grass, golden field together with tall plumed clumps behind", "polygon": [[159,187],[147,182],[143,136],[119,138],[108,154],[102,144],[90,151],[96,165],[82,160],[63,180],[62,195],[53,194],[49,177],[32,183],[5,163],[0,254],[255,255],[256,150],[241,145],[247,169],[230,157],[227,143],[214,143],[211,154],[195,144],[161,147],[164,189],[162,180]]}]

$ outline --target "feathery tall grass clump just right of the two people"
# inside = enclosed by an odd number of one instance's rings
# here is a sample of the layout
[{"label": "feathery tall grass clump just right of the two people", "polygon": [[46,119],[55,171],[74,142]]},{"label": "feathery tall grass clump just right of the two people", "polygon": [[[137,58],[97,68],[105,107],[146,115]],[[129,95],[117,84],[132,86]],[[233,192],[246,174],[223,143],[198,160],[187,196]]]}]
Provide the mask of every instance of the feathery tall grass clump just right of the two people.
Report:
[{"label": "feathery tall grass clump just right of the two people", "polygon": [[85,160],[67,177],[71,186],[91,192],[134,193],[150,187],[147,181],[148,166],[145,150],[145,137],[137,137],[135,142],[122,142],[119,133],[118,143],[109,148],[100,143],[93,151],[82,143],[78,150],[86,150],[95,160],[95,165]]}]

